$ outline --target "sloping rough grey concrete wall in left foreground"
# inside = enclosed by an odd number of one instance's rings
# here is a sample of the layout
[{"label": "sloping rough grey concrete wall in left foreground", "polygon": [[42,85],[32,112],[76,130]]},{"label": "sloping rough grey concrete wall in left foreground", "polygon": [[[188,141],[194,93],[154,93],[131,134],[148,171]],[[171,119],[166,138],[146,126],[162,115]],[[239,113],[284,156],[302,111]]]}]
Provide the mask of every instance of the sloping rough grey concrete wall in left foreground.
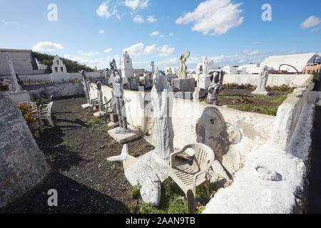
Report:
[{"label": "sloping rough grey concrete wall in left foreground", "polygon": [[46,177],[50,167],[17,105],[0,95],[0,207]]}]

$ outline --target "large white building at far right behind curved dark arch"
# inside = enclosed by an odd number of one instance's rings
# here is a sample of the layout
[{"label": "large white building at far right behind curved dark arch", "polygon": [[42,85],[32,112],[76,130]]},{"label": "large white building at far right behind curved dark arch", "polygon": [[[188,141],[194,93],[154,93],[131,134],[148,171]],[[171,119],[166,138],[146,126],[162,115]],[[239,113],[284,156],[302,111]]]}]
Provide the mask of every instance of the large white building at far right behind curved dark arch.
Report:
[{"label": "large white building at far right behind curved dark arch", "polygon": [[[313,63],[317,56],[317,53],[270,56],[265,58],[265,60],[260,64],[260,66],[266,65],[274,71],[279,71],[279,67],[281,64],[288,64],[290,66],[294,66],[297,69],[297,71],[300,72],[307,63]],[[295,71],[295,69],[290,66],[281,66],[280,70],[296,73],[297,71]]]}]

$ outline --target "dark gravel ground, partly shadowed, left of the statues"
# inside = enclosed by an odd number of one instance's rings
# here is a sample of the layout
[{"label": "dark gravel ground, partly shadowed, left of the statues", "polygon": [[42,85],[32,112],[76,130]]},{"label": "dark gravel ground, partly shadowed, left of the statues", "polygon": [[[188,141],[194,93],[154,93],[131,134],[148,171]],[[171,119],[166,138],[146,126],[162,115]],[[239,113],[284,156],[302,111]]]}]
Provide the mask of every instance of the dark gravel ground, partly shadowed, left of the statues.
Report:
[{"label": "dark gravel ground, partly shadowed, left of the statues", "polygon": [[[45,128],[36,140],[44,152],[51,172],[29,193],[0,213],[126,213],[135,207],[132,187],[120,162],[107,158],[120,155],[123,145],[108,133],[103,120],[83,110],[86,98],[54,100],[54,128]],[[128,142],[133,156],[154,147],[143,139]],[[58,206],[49,207],[47,192],[58,192]],[[130,206],[130,207],[128,207]]]}]

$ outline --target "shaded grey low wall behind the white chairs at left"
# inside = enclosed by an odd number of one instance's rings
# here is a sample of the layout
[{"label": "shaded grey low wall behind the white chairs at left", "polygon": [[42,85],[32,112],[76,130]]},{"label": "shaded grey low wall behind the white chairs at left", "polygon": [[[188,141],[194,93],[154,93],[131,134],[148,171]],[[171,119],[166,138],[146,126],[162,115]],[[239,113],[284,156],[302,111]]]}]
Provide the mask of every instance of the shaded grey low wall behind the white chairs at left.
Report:
[{"label": "shaded grey low wall behind the white chairs at left", "polygon": [[84,95],[81,83],[45,83],[37,85],[24,85],[23,90],[29,91],[29,95],[36,99],[44,98],[50,95],[54,97],[69,95]]}]

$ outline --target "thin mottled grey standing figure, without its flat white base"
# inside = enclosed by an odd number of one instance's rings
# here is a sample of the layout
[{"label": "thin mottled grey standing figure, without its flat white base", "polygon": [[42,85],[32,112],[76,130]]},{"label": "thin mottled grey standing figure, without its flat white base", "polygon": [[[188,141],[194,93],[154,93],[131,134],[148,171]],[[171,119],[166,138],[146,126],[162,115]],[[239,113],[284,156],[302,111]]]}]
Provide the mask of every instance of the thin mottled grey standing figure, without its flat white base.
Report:
[{"label": "thin mottled grey standing figure, without its flat white base", "polygon": [[126,108],[123,100],[123,80],[117,70],[113,74],[115,75],[113,78],[113,93],[116,98],[119,126],[121,130],[127,130]]}]

